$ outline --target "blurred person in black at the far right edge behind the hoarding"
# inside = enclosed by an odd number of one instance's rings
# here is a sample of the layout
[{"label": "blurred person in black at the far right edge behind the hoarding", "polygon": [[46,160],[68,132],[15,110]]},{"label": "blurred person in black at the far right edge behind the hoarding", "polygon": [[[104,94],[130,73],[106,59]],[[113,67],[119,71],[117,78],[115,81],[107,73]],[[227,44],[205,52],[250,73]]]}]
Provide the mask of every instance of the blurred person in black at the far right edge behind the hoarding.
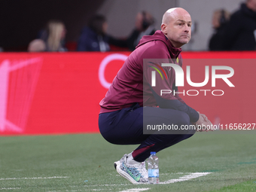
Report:
[{"label": "blurred person in black at the far right edge behind the hoarding", "polygon": [[247,0],[231,15],[224,34],[224,47],[227,50],[255,50],[256,0]]}]

